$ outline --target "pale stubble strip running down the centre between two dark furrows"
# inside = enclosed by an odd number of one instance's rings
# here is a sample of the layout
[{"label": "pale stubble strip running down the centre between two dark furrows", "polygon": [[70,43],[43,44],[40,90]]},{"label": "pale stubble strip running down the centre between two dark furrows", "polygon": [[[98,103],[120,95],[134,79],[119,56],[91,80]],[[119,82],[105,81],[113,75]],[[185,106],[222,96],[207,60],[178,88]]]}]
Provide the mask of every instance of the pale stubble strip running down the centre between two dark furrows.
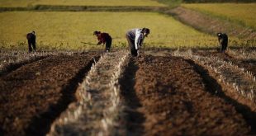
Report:
[{"label": "pale stubble strip running down the centre between two dark furrows", "polygon": [[104,54],[78,87],[78,101],[55,120],[48,135],[122,134],[116,129],[122,111],[118,78],[127,56],[126,51]]}]

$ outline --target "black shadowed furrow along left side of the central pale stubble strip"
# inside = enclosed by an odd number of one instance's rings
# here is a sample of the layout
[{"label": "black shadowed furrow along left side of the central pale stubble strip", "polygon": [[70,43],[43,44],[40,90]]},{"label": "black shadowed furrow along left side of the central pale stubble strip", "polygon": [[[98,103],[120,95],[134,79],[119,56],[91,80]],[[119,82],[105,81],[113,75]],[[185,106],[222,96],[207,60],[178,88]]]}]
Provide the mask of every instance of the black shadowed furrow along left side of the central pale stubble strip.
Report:
[{"label": "black shadowed furrow along left side of the central pale stubble strip", "polygon": [[[100,57],[97,56],[94,57],[94,59],[97,62]],[[31,124],[29,124],[26,129],[26,135],[43,136],[50,131],[50,126],[55,119],[68,108],[70,103],[76,101],[75,91],[77,90],[78,82],[83,82],[83,78],[87,75],[92,63],[94,63],[94,59],[92,58],[89,63],[84,68],[80,69],[78,73],[69,80],[67,85],[63,87],[60,91],[62,96],[55,105],[50,106],[46,112],[33,117]]]}]

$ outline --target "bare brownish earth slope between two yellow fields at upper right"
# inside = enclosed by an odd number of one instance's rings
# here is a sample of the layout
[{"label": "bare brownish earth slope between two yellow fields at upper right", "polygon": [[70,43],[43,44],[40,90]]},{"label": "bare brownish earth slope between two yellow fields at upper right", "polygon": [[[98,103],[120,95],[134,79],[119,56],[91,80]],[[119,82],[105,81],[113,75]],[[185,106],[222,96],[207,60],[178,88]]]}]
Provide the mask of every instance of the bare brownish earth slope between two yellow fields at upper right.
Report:
[{"label": "bare brownish earth slope between two yellow fields at upper right", "polygon": [[179,21],[189,26],[210,34],[225,32],[231,36],[238,36],[247,40],[256,38],[256,32],[252,29],[244,28],[244,26],[239,26],[228,21],[220,21],[219,19],[206,16],[185,7],[177,7],[166,13],[172,14],[178,18]]}]

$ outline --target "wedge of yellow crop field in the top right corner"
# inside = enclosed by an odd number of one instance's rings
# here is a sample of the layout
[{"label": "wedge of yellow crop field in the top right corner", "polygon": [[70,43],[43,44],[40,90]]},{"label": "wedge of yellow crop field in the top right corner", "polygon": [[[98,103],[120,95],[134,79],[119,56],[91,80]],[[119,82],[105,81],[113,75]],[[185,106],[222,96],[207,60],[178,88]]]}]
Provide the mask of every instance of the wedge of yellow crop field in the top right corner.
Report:
[{"label": "wedge of yellow crop field in the top right corner", "polygon": [[256,30],[256,3],[201,3],[182,4],[182,6],[234,21]]}]

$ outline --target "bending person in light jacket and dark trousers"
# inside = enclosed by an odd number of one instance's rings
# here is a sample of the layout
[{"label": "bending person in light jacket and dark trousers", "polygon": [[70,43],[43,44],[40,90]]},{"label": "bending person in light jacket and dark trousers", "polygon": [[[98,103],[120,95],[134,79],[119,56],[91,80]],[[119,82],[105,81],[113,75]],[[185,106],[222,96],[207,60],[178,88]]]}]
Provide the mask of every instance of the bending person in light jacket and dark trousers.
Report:
[{"label": "bending person in light jacket and dark trousers", "polygon": [[148,28],[135,28],[128,30],[126,33],[126,39],[129,44],[130,54],[133,56],[139,56],[140,47],[145,37],[149,35]]}]

